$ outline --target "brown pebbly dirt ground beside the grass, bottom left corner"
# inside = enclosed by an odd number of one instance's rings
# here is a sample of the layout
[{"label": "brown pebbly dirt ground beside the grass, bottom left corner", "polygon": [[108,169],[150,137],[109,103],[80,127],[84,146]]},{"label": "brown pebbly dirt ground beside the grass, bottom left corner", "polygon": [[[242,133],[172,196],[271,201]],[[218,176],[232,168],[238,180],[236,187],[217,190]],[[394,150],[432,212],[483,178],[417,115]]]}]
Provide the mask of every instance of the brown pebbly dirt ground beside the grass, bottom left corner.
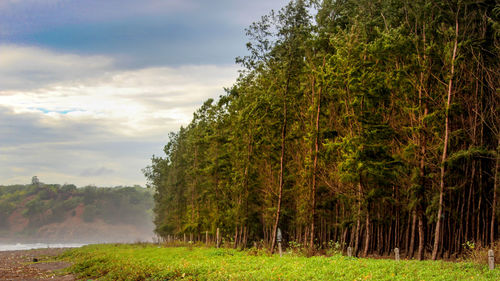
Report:
[{"label": "brown pebbly dirt ground beside the grass, bottom left corner", "polygon": [[[75,280],[72,275],[55,272],[70,266],[67,262],[48,261],[67,249],[37,249],[0,252],[0,280]],[[38,259],[34,263],[33,258]]]}]

